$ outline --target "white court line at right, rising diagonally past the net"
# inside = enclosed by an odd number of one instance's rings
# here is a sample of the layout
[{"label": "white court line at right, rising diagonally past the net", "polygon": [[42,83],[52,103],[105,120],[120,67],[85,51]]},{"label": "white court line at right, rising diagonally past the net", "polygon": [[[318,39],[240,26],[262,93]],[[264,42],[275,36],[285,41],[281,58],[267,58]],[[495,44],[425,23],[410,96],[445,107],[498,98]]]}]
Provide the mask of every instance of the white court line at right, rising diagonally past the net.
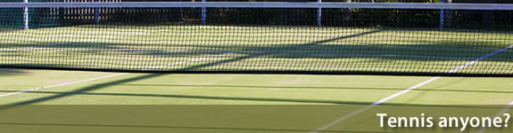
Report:
[{"label": "white court line at right, rising diagonally past the net", "polygon": [[[451,71],[447,72],[447,74],[456,73],[456,72],[458,72],[460,69],[463,69],[463,68],[465,68],[465,67],[467,67],[467,66],[471,66],[471,65],[475,64],[475,63],[476,63],[477,61],[479,61],[479,60],[486,59],[486,58],[491,57],[491,56],[493,56],[493,55],[495,55],[495,54],[497,54],[497,53],[500,53],[500,52],[502,52],[502,51],[506,51],[506,50],[511,49],[511,48],[513,48],[513,44],[512,44],[512,45],[509,45],[508,47],[503,48],[503,49],[501,49],[501,50],[499,50],[499,51],[494,51],[494,52],[492,52],[492,53],[490,53],[490,54],[488,54],[488,55],[486,55],[486,56],[484,56],[484,57],[481,57],[481,58],[479,58],[479,59],[475,59],[475,60],[473,60],[473,61],[470,61],[470,62],[468,62],[468,63],[467,63],[467,64],[465,64],[465,65],[458,66],[458,67],[456,67],[456,68],[452,69]],[[353,112],[353,113],[349,113],[349,114],[347,114],[347,115],[344,115],[344,116],[342,116],[342,117],[340,117],[340,118],[336,119],[335,121],[331,121],[331,122],[327,123],[326,125],[324,125],[324,126],[320,127],[319,129],[314,129],[314,130],[310,131],[310,133],[319,133],[320,131],[325,130],[325,129],[327,129],[327,128],[330,128],[330,127],[334,126],[335,124],[340,123],[341,121],[344,121],[344,120],[346,120],[346,119],[348,119],[348,118],[351,118],[353,115],[356,115],[356,114],[358,114],[358,113],[365,112],[365,111],[367,111],[368,109],[370,109],[370,108],[372,108],[372,107],[374,107],[374,106],[381,105],[382,103],[384,103],[384,102],[385,102],[385,101],[387,101],[387,100],[390,100],[390,99],[392,99],[392,98],[396,98],[396,97],[398,97],[398,96],[401,96],[402,94],[404,94],[404,93],[406,93],[406,92],[408,92],[408,91],[410,91],[410,90],[415,90],[415,89],[417,89],[417,88],[418,88],[418,87],[420,87],[420,86],[423,86],[423,85],[425,85],[425,84],[427,84],[427,83],[429,83],[429,82],[434,82],[434,81],[436,81],[436,80],[438,80],[438,79],[440,79],[440,78],[442,78],[442,77],[441,77],[441,76],[436,76],[436,77],[433,77],[433,78],[431,78],[431,79],[429,79],[429,80],[427,80],[427,81],[425,81],[425,82],[420,82],[420,83],[418,83],[417,85],[414,85],[414,86],[412,86],[412,87],[410,87],[410,88],[408,88],[408,89],[406,89],[406,90],[402,90],[402,91],[397,92],[397,93],[395,93],[395,94],[393,94],[393,95],[391,95],[391,96],[389,96],[389,97],[383,98],[383,99],[381,99],[381,100],[379,100],[379,101],[377,101],[377,102],[373,103],[372,105],[369,105],[369,106],[366,106],[366,107],[364,107],[364,108],[361,108],[360,110],[357,110],[357,111],[355,111],[355,112]]]}]

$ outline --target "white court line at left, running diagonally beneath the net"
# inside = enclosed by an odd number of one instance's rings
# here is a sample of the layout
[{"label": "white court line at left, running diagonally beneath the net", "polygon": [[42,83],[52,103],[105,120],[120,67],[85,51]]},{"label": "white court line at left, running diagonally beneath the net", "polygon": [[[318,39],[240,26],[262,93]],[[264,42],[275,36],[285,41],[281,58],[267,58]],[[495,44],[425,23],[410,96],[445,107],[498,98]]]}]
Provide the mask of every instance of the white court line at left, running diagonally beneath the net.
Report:
[{"label": "white court line at left, running diagonally beneath the net", "polygon": [[[205,59],[218,58],[218,57],[228,56],[230,54],[232,54],[232,53],[224,53],[224,54],[214,55],[214,56],[206,57],[206,58],[191,59],[191,60],[187,60],[187,61],[180,61],[180,62],[171,63],[171,64],[163,65],[163,66],[154,66],[154,67],[143,69],[143,71],[158,69],[158,68],[162,68],[162,67],[165,67],[165,66],[176,66],[176,65],[184,64],[184,63],[188,63],[188,62],[202,61],[202,60],[205,60]],[[7,96],[12,96],[12,95],[16,95],[16,94],[20,94],[20,93],[23,93],[23,92],[29,92],[29,91],[35,91],[35,90],[43,90],[43,89],[54,88],[54,87],[59,87],[59,86],[64,86],[64,85],[70,85],[70,84],[75,84],[75,83],[80,83],[80,82],[91,82],[91,81],[95,81],[95,80],[99,80],[99,79],[104,79],[104,78],[109,78],[109,77],[114,77],[114,76],[120,76],[120,75],[124,75],[124,74],[129,74],[129,73],[111,74],[111,75],[106,75],[106,76],[102,76],[102,77],[96,77],[96,78],[82,80],[82,81],[77,81],[77,82],[66,82],[66,83],[62,83],[62,84],[50,85],[50,86],[39,87],[39,88],[34,88],[34,89],[29,89],[29,90],[21,90],[21,91],[16,91],[16,92],[0,95],[0,98],[7,97]]]}]

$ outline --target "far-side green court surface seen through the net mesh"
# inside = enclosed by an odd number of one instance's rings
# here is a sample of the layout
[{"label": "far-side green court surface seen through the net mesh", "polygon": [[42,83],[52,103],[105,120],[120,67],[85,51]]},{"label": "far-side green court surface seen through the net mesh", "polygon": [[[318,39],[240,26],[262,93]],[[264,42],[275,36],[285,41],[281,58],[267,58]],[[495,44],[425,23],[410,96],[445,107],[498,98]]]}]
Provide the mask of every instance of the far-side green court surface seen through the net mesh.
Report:
[{"label": "far-side green court surface seen through the net mesh", "polygon": [[[141,70],[186,62],[154,69],[164,71],[445,73],[513,44],[503,31],[349,27],[93,25],[0,36],[3,64]],[[511,59],[505,51],[462,72],[511,74]]]}]

